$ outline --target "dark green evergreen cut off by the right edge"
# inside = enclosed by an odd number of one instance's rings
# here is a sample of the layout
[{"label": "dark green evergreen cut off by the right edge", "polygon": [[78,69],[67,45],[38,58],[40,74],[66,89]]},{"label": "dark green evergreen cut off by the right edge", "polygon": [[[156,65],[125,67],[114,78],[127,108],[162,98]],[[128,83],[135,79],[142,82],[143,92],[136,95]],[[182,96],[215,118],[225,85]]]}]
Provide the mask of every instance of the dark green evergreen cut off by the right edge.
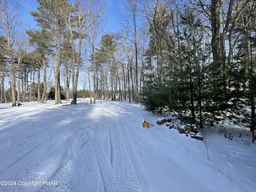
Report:
[{"label": "dark green evergreen cut off by the right edge", "polygon": [[256,140],[256,39],[249,38],[249,58],[247,56],[247,46],[244,46],[245,41],[247,41],[246,38],[240,40],[238,52],[234,57],[235,62],[230,70],[232,76],[230,84],[233,90],[230,92],[232,114],[229,118],[236,124],[249,127],[252,132],[252,142],[254,142]]}]

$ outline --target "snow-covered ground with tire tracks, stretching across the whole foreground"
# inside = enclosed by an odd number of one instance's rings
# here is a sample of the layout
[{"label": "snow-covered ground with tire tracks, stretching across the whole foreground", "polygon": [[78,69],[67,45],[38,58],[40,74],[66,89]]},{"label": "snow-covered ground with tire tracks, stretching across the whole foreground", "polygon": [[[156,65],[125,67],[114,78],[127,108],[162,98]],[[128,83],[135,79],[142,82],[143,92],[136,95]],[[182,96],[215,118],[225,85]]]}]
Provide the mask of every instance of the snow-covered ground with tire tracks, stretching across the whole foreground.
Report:
[{"label": "snow-covered ground with tire tracks, stretching across the whole foreground", "polygon": [[156,124],[140,104],[63,104],[0,104],[1,192],[256,190],[255,144],[208,131],[208,160],[203,141]]}]

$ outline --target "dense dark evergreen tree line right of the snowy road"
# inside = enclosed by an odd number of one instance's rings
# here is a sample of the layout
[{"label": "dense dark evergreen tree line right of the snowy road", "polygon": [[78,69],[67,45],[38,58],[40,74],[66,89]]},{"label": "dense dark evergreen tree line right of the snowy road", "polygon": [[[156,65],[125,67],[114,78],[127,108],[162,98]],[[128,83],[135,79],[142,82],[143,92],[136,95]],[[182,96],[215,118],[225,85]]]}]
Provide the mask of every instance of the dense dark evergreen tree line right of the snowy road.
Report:
[{"label": "dense dark evergreen tree line right of the snowy road", "polygon": [[146,108],[201,128],[232,120],[249,127],[254,142],[256,2],[190,0],[183,8],[158,2],[145,9]]}]

